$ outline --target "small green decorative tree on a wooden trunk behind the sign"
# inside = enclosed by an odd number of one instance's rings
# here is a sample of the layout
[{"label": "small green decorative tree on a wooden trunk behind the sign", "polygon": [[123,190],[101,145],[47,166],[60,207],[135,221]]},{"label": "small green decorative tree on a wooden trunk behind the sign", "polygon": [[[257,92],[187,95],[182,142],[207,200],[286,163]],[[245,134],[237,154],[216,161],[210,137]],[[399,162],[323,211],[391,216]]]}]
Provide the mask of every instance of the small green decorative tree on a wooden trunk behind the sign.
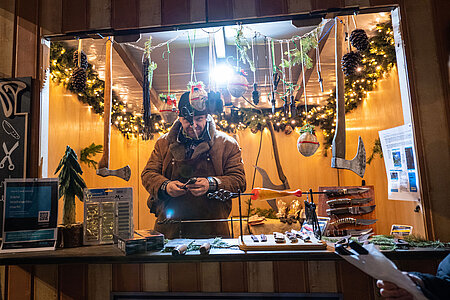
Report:
[{"label": "small green decorative tree on a wooden trunk behind the sign", "polygon": [[58,172],[59,198],[64,196],[63,224],[74,224],[75,196],[83,201],[83,190],[86,188],[86,183],[80,176],[83,171],[78,163],[77,154],[69,146],[66,147],[55,174]]}]

